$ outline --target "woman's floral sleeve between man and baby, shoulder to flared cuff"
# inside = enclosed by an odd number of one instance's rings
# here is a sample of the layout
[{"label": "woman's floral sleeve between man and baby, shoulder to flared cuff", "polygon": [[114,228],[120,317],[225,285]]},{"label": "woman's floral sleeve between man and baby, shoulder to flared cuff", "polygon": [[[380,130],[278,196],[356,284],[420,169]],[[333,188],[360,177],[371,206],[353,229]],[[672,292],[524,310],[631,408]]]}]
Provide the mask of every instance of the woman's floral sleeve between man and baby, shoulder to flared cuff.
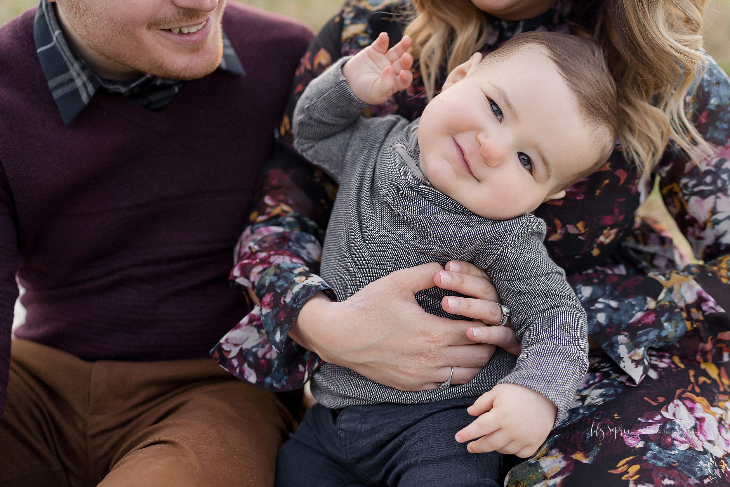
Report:
[{"label": "woman's floral sleeve between man and baby, shoulder to flared cuff", "polygon": [[312,296],[337,299],[317,275],[337,185],[293,149],[291,118],[310,81],[340,57],[341,13],[301,57],[274,153],[258,181],[251,224],[234,252],[231,283],[261,305],[211,350],[231,374],[270,390],[300,388],[320,366],[315,353],[288,340],[289,330]]}]

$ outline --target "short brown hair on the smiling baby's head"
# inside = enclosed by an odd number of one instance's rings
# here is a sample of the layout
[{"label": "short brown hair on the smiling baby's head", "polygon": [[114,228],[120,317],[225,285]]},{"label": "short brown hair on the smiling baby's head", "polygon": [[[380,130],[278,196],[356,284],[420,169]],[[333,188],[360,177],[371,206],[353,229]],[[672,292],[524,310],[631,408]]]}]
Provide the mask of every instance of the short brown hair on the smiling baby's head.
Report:
[{"label": "short brown hair on the smiling baby's head", "polygon": [[620,128],[616,85],[601,47],[592,39],[556,32],[523,32],[512,37],[482,63],[499,62],[527,46],[542,47],[568,89],[575,95],[583,120],[596,134],[596,161],[577,168],[560,189],[577,183],[602,166],[610,156]]}]

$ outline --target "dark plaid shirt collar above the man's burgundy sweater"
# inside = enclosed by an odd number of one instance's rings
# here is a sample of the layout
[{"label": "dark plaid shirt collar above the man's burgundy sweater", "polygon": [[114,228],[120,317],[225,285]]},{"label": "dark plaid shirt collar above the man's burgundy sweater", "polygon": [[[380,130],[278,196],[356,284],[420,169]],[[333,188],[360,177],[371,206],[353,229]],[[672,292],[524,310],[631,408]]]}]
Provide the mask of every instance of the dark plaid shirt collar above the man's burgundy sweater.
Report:
[{"label": "dark plaid shirt collar above the man's burgundy sweater", "polygon": [[[163,102],[164,104],[159,106],[159,102],[155,104],[150,99],[159,99],[162,96],[169,103],[184,83],[180,80],[169,80],[152,74],[142,74],[134,80],[121,82],[104,80],[97,76],[66,42],[61,28],[58,26],[53,4],[48,0],[40,0],[33,24],[33,37],[48,88],[53,94],[53,100],[66,125],[76,118],[99,88],[120,93],[142,106],[159,110],[166,103]],[[225,32],[223,32],[223,58],[220,60],[218,69],[239,76],[246,75]],[[141,92],[144,87],[151,87],[151,93],[150,90]],[[160,93],[161,90],[164,93]]]}]

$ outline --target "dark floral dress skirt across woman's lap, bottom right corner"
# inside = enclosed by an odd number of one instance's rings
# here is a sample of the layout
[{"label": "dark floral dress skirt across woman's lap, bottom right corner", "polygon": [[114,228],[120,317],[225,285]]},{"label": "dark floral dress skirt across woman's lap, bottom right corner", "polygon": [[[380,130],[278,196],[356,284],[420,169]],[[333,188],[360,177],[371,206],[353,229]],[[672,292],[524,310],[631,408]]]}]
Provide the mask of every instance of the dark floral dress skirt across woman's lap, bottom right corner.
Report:
[{"label": "dark floral dress skirt across woman's lap, bottom right corner", "polygon": [[650,350],[636,386],[607,356],[590,361],[569,416],[505,486],[730,484],[725,369]]}]

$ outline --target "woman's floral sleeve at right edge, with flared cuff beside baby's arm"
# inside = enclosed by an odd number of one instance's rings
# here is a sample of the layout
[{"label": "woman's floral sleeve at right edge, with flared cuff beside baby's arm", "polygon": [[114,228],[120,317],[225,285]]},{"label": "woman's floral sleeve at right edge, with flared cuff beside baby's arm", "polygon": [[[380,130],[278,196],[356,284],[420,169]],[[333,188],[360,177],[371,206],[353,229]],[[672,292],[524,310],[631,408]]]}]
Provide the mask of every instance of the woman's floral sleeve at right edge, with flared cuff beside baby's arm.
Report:
[{"label": "woman's floral sleeve at right edge, with flared cuff beside baby's arm", "polygon": [[[648,348],[715,362],[730,351],[730,81],[714,62],[692,109],[715,153],[696,166],[670,145],[656,172],[669,211],[705,264],[662,270],[645,260],[648,275],[605,269],[568,277],[588,313],[588,334],[636,383],[649,371]],[[642,248],[660,243],[643,240]]]}]

